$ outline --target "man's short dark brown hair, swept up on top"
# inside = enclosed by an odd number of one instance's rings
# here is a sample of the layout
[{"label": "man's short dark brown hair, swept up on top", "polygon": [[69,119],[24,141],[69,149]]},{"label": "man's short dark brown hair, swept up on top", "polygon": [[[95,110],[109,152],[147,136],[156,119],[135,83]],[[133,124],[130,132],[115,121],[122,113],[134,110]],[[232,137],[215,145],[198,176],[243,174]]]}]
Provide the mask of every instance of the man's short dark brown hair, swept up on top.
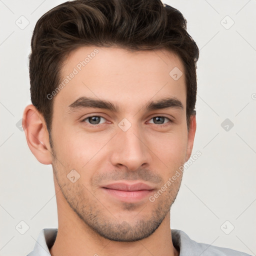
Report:
[{"label": "man's short dark brown hair, swept up on top", "polygon": [[57,5],[36,22],[29,55],[31,102],[50,132],[53,99],[61,64],[86,45],[128,50],[165,48],[182,60],[186,81],[186,121],[195,114],[196,61],[199,49],[186,31],[186,19],[160,0],[74,0]]}]

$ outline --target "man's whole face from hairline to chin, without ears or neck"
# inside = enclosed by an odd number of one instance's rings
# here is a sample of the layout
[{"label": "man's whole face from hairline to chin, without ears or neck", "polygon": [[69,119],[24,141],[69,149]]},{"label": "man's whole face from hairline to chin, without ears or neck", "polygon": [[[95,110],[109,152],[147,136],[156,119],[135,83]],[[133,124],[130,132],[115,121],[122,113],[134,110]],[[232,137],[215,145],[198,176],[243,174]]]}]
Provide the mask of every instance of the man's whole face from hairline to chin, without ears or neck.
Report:
[{"label": "man's whole face from hairline to chin, without ears or neck", "polygon": [[93,46],[71,52],[62,67],[64,85],[51,99],[53,172],[77,216],[110,240],[152,234],[177,195],[182,173],[172,176],[192,141],[185,77],[173,79],[174,67],[184,74],[164,49]]}]

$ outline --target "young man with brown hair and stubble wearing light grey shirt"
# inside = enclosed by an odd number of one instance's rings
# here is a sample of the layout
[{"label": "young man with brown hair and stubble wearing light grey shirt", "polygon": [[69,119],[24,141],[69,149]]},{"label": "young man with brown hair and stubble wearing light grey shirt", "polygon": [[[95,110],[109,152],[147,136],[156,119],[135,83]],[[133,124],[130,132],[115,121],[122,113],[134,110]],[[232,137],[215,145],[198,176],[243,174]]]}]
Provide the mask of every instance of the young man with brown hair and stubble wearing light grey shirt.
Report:
[{"label": "young man with brown hair and stubble wearing light grey shirt", "polygon": [[76,0],[36,23],[28,146],[52,164],[58,229],[32,255],[248,255],[170,230],[196,130],[198,47],[159,0]]}]

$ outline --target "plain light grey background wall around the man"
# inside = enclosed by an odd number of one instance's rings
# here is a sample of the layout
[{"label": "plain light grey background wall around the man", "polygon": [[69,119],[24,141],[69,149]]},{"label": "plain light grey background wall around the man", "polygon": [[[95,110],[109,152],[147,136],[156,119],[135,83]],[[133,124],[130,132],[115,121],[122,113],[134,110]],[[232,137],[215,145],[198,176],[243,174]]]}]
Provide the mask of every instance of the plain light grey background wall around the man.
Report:
[{"label": "plain light grey background wall around the man", "polygon": [[[1,256],[26,255],[42,228],[57,227],[51,165],[36,160],[16,123],[30,103],[32,30],[61,2],[0,0]],[[256,0],[163,2],[185,16],[200,49],[193,153],[201,156],[184,172],[171,228],[198,242],[256,255]],[[228,131],[221,126],[226,118],[234,124]],[[15,229],[21,220],[29,226],[23,235]]]}]

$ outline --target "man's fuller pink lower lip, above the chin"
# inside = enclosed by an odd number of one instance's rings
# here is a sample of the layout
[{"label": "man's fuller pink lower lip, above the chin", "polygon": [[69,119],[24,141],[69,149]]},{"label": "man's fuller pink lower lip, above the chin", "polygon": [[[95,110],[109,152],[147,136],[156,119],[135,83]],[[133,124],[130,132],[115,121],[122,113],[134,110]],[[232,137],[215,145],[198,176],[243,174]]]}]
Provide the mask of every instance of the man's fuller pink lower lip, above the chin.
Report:
[{"label": "man's fuller pink lower lip, above the chin", "polygon": [[103,190],[121,201],[139,201],[152,193],[152,190],[123,191],[104,187]]}]

